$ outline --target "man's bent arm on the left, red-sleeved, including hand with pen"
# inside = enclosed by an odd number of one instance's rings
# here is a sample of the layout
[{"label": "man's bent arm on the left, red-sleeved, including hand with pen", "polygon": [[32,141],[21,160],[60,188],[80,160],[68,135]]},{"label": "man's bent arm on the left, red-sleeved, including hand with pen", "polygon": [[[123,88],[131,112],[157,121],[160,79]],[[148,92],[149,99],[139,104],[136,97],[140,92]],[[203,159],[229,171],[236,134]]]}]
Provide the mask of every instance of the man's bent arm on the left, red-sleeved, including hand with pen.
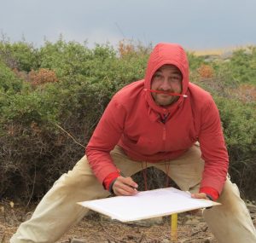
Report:
[{"label": "man's bent arm on the left, red-sleeved, including hand with pen", "polygon": [[102,115],[86,147],[90,167],[105,189],[116,195],[137,194],[137,183],[121,176],[110,151],[119,142],[125,126],[125,108],[114,98]]}]

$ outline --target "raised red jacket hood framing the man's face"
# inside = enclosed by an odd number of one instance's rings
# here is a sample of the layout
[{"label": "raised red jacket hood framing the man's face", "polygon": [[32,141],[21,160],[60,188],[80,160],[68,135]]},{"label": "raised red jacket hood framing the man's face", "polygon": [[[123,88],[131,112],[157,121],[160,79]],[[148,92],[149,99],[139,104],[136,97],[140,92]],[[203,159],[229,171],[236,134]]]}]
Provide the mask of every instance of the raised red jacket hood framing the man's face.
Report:
[{"label": "raised red jacket hood framing the man's face", "polygon": [[146,69],[146,75],[144,78],[145,91],[147,92],[146,99],[148,101],[148,105],[158,113],[172,112],[173,109],[176,109],[177,106],[182,104],[183,99],[185,98],[184,96],[180,96],[177,102],[172,104],[172,106],[170,107],[163,108],[155,104],[151,92],[148,90],[150,90],[151,88],[151,80],[154,72],[156,72],[156,70],[158,70],[161,66],[165,64],[175,65],[180,70],[180,72],[182,72],[182,95],[185,95],[187,93],[189,85],[189,61],[183,47],[177,43],[158,43],[149,56],[148,67]]}]

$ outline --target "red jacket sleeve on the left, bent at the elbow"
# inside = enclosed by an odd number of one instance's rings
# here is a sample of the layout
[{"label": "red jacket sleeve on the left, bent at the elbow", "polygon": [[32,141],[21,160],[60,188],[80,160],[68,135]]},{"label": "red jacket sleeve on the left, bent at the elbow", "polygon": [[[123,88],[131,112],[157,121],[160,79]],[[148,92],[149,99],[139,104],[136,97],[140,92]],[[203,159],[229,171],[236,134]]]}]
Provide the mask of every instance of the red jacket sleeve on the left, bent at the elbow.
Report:
[{"label": "red jacket sleeve on the left, bent at the elbow", "polygon": [[119,142],[124,123],[125,108],[113,98],[102,114],[85,149],[91,170],[100,182],[103,182],[110,173],[118,172],[113,164],[110,151]]}]

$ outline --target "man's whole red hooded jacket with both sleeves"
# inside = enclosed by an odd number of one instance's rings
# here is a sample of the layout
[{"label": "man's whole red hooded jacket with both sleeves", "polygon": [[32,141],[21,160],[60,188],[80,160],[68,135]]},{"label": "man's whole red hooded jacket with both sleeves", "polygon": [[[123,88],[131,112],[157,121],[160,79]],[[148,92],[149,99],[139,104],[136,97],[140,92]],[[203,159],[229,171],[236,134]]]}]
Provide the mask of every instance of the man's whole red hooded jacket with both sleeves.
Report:
[{"label": "man's whole red hooded jacket with both sleeves", "polygon": [[[150,90],[154,72],[164,64],[177,66],[183,74],[183,95],[170,107],[154,102]],[[160,117],[170,113],[163,124]],[[212,96],[189,83],[189,64],[182,47],[158,44],[148,60],[146,75],[113,96],[86,147],[92,171],[100,182],[116,171],[110,151],[115,145],[137,161],[158,163],[182,155],[199,141],[205,169],[201,187],[220,194],[228,171],[218,108]]]}]

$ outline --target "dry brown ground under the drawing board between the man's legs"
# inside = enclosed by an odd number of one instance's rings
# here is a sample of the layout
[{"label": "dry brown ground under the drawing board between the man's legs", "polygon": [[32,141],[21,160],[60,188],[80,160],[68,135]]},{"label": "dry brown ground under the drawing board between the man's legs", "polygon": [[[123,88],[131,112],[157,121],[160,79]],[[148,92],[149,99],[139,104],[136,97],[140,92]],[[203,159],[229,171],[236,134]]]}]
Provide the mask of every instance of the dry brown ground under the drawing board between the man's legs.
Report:
[{"label": "dry brown ground under the drawing board between the man's legs", "polygon": [[[190,223],[189,223],[190,220]],[[186,216],[179,216],[178,242],[217,242],[207,229],[206,223]],[[187,221],[187,223],[184,223]],[[87,218],[71,229],[58,242],[70,242],[73,237],[86,239],[86,242],[171,242],[170,217],[163,217],[156,223],[145,220],[136,223],[119,223],[106,218]],[[208,240],[208,241],[206,241]]]}]

